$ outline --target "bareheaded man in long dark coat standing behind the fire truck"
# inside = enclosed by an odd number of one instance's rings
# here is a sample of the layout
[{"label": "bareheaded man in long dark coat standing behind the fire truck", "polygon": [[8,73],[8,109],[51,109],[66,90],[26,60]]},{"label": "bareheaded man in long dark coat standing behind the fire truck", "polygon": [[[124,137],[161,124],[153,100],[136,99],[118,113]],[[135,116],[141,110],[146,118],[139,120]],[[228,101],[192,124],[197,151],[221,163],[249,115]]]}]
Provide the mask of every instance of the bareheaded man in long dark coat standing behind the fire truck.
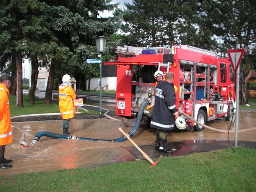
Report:
[{"label": "bareheaded man in long dark coat standing behind the fire truck", "polygon": [[[174,74],[168,72],[165,81],[158,84],[155,88],[155,107],[150,126],[157,128],[156,149],[159,152],[172,153],[166,148],[167,133],[175,128],[175,118],[179,116],[178,109],[175,106]],[[160,146],[159,146],[159,145]],[[158,148],[159,147],[159,148]]]}]

